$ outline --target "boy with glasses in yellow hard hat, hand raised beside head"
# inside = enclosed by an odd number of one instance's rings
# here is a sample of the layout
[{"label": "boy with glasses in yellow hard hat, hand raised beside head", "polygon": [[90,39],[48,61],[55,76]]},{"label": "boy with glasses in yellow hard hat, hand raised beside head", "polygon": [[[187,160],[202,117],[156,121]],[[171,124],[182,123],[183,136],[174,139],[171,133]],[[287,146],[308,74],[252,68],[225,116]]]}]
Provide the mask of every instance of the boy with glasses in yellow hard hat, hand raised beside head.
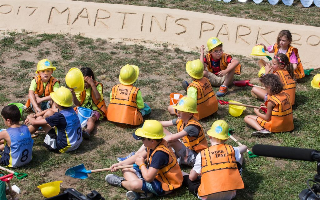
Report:
[{"label": "boy with glasses in yellow hard hat, hand raised beside head", "polygon": [[[241,74],[241,64],[231,55],[223,52],[222,42],[218,38],[209,38],[207,46],[209,52],[205,56],[204,45],[200,47],[200,60],[204,64],[204,77],[209,78],[212,86],[220,86],[216,94],[218,97],[223,97],[228,92],[228,86],[233,82],[234,74]],[[187,83],[183,82],[183,84],[186,85]]]}]

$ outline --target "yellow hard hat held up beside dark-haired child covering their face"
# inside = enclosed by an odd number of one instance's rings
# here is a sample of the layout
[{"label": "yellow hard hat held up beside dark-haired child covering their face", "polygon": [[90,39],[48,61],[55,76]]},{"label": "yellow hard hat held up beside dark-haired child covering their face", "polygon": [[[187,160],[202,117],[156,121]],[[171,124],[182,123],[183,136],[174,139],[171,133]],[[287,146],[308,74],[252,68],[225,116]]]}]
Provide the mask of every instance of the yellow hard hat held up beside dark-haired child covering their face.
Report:
[{"label": "yellow hard hat held up beside dark-haired child covering their face", "polygon": [[71,68],[66,75],[66,84],[69,88],[74,88],[76,93],[84,90],[84,78],[81,70],[76,67]]}]

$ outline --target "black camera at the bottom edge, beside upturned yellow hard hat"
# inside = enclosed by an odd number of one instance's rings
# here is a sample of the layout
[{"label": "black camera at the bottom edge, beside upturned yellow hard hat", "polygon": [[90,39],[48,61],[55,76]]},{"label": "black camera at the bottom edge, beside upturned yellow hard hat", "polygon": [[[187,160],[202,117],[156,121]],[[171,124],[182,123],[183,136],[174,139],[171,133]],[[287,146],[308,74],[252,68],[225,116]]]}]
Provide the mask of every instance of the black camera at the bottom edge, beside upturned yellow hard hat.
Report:
[{"label": "black camera at the bottom edge, beside upturned yellow hard hat", "polygon": [[73,188],[64,190],[63,194],[52,196],[45,200],[105,200],[99,192],[92,190],[87,196],[84,196],[80,192]]}]

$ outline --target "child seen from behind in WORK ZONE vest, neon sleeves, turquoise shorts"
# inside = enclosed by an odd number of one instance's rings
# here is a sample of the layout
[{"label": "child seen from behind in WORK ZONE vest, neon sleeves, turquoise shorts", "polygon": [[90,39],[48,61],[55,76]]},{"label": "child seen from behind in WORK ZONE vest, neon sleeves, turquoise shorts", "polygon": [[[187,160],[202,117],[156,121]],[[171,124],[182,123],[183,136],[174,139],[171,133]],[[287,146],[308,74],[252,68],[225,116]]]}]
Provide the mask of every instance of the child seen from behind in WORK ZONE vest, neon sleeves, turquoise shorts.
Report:
[{"label": "child seen from behind in WORK ZONE vest, neon sleeves, turquoise shorts", "polygon": [[111,122],[138,126],[143,116],[151,113],[151,108],[143,102],[141,91],[133,86],[138,79],[139,67],[125,65],[120,70],[120,84],[112,87],[107,119]]}]

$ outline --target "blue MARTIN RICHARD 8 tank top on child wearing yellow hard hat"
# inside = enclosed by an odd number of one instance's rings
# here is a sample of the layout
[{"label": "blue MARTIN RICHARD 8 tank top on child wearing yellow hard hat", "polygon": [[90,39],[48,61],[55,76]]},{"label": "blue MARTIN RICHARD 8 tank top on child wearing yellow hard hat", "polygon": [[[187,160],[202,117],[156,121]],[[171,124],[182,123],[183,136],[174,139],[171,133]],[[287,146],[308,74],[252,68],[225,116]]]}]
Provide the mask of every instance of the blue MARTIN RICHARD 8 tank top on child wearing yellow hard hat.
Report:
[{"label": "blue MARTIN RICHARD 8 tank top on child wearing yellow hard hat", "polygon": [[[65,153],[77,149],[82,142],[82,128],[76,112],[72,107],[60,110],[67,122],[65,132],[57,134],[57,148],[59,152]],[[55,128],[58,132],[57,127]]]}]

